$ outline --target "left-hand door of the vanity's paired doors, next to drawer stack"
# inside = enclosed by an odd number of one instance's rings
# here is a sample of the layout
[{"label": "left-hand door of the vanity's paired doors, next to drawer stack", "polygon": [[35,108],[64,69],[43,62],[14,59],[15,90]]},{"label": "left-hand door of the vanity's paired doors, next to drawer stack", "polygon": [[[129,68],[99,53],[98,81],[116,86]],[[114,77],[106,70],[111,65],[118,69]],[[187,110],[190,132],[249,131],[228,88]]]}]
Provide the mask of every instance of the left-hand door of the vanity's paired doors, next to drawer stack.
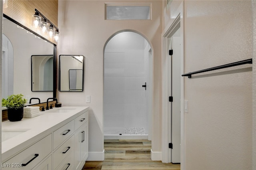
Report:
[{"label": "left-hand door of the vanity's paired doors, next to drawer stack", "polygon": [[81,143],[83,140],[82,127],[75,132],[75,146],[74,146],[74,167],[79,169],[81,164]]}]

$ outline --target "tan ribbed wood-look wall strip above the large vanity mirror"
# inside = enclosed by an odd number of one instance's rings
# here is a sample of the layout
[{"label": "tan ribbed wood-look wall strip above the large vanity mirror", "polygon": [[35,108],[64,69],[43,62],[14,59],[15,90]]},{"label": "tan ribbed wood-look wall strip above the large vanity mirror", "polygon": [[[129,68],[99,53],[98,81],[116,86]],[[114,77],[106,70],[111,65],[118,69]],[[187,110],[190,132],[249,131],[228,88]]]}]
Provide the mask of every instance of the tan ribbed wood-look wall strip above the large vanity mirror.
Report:
[{"label": "tan ribbed wood-look wall strip above the large vanity mirror", "polygon": [[3,13],[50,42],[57,44],[47,34],[42,34],[40,29],[31,26],[31,18],[35,14],[35,9],[58,27],[58,0],[8,0],[8,7],[3,9]]}]

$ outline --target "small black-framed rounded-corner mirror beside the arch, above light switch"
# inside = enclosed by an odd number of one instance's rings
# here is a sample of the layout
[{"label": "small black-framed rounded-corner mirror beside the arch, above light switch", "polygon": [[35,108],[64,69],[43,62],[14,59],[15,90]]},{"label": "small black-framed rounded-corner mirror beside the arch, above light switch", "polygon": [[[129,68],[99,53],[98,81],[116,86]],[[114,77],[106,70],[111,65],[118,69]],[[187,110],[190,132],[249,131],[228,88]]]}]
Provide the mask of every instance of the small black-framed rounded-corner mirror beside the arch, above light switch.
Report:
[{"label": "small black-framed rounded-corner mirror beside the arch, above light switch", "polygon": [[59,91],[83,91],[84,56],[60,55]]}]

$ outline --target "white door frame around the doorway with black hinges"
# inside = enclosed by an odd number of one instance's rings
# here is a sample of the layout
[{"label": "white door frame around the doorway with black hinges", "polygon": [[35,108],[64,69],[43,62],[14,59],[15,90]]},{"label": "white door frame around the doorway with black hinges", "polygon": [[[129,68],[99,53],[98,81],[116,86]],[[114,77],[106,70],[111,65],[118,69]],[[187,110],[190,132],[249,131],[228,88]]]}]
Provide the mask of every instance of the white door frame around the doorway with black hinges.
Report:
[{"label": "white door frame around the doorway with black hinges", "polygon": [[[169,107],[169,79],[171,77],[170,72],[170,55],[168,55],[168,37],[171,37],[180,28],[180,74],[184,73],[184,19],[183,19],[183,7],[184,1],[177,9],[177,15],[175,20],[166,26],[162,34],[162,162],[171,162],[171,149],[167,149],[168,144],[171,141],[172,132],[172,120],[171,120],[171,108]],[[184,78],[180,79],[180,169],[184,167]]]}]

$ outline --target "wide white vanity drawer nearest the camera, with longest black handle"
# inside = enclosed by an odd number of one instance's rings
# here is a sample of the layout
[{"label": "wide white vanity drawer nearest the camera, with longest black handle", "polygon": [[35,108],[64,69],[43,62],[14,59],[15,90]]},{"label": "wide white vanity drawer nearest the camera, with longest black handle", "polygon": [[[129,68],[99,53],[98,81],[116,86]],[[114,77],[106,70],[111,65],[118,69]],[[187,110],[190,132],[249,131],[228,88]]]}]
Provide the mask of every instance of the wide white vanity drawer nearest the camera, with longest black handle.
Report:
[{"label": "wide white vanity drawer nearest the camera, with longest black handle", "polygon": [[[2,163],[3,170],[32,169],[52,151],[52,134],[42,138],[16,156]],[[4,167],[3,167],[4,166]]]}]

